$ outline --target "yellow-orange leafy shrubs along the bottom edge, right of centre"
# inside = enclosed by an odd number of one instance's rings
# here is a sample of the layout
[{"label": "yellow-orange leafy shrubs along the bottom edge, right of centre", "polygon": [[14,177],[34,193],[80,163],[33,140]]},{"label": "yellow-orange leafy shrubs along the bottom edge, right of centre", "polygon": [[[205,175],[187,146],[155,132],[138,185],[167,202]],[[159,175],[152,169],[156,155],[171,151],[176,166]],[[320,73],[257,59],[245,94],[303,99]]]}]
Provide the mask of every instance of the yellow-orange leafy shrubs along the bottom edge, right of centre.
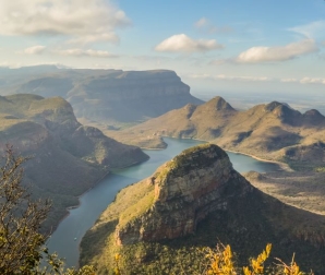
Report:
[{"label": "yellow-orange leafy shrubs along the bottom edge, right of centre", "polygon": [[[134,272],[131,265],[125,266],[124,255],[116,254],[116,266],[112,274],[193,274],[193,275],[306,275],[300,271],[299,265],[294,262],[294,254],[289,264],[282,262],[280,259],[275,259],[277,263],[268,261],[272,250],[272,244],[267,243],[265,250],[256,258],[250,259],[249,266],[239,266],[236,263],[236,256],[231,251],[230,246],[218,244],[215,249],[203,248],[192,249],[188,253],[194,253],[196,256],[196,264],[178,263],[179,270],[171,272],[166,268],[164,262],[159,263],[157,268],[142,270]],[[186,253],[186,252],[185,252]],[[147,273],[148,272],[148,273]],[[309,273],[313,275],[312,272]]]}]

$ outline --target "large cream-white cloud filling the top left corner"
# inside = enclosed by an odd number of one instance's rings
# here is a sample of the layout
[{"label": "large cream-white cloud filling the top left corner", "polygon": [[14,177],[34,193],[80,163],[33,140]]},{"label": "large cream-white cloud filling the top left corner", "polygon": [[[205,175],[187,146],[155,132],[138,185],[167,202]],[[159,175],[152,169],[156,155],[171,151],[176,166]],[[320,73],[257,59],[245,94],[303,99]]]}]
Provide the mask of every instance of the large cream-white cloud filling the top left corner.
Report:
[{"label": "large cream-white cloud filling the top left corner", "polygon": [[104,0],[10,0],[0,2],[1,35],[67,35],[85,43],[117,41],[115,29],[130,24]]}]

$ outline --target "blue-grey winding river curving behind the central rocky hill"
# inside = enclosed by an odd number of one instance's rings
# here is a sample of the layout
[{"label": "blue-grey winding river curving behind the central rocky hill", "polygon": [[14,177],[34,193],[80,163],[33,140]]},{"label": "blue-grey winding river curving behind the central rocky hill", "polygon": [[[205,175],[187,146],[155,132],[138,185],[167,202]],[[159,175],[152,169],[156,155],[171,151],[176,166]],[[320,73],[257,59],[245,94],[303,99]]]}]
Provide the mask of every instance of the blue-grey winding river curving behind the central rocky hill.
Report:
[{"label": "blue-grey winding river curving behind the central rocky hill", "polygon": [[[183,150],[203,142],[193,140],[165,139],[168,147],[162,151],[145,151],[149,159],[143,164],[116,170],[100,183],[80,198],[80,206],[70,211],[48,241],[50,252],[58,252],[64,258],[67,266],[77,266],[79,244],[85,232],[94,225],[97,217],[111,203],[119,190],[149,177],[161,164],[171,159]],[[236,170],[239,172],[255,170],[260,172],[274,171],[278,166],[264,163],[252,157],[228,153]]]}]

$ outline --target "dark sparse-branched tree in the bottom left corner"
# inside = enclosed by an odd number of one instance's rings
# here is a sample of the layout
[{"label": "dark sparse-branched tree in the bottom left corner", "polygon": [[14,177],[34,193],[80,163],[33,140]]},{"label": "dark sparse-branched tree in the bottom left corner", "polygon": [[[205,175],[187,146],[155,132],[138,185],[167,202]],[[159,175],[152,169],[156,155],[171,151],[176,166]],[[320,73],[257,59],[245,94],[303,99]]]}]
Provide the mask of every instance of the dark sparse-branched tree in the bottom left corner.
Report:
[{"label": "dark sparse-branched tree in the bottom left corner", "polygon": [[[63,272],[63,262],[48,252],[47,238],[39,229],[51,203],[33,201],[22,184],[22,165],[27,159],[15,157],[7,146],[0,160],[0,274],[94,274],[92,266]],[[47,265],[41,267],[41,261]]]}]

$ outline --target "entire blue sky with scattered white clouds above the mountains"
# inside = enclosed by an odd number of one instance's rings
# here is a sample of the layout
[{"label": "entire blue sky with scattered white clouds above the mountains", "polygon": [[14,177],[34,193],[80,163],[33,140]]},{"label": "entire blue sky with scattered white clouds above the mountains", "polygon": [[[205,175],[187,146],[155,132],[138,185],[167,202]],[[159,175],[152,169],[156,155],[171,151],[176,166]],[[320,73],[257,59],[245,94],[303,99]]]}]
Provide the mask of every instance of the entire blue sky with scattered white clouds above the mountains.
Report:
[{"label": "entire blue sky with scattered white clouds above the mountains", "polygon": [[325,92],[324,0],[1,0],[0,67],[173,70],[195,91]]}]

